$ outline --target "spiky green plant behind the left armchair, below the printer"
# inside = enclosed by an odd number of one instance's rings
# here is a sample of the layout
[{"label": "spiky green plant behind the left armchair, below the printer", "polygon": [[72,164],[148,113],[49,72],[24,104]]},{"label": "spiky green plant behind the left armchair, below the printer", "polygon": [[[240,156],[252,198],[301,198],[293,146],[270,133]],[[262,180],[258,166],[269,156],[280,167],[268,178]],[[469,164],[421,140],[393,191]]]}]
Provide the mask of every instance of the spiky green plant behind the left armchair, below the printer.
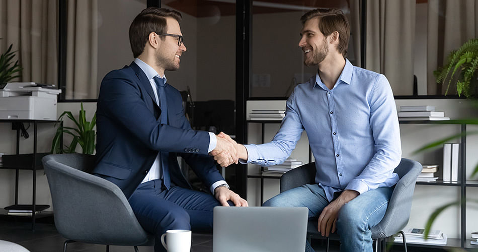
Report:
[{"label": "spiky green plant behind the left armchair, below the printer", "polygon": [[[63,122],[63,117],[66,115],[75,125],[75,127],[66,127],[61,123],[56,130],[56,135],[53,138],[51,145],[51,153],[75,153],[76,146],[79,144],[82,148],[83,154],[93,154],[95,151],[95,139],[96,133],[93,128],[96,125],[96,113],[93,115],[91,121],[87,121],[86,112],[83,109],[83,102],[81,103],[81,109],[79,110],[78,119],[74,118],[70,111],[64,111],[59,117],[58,121]],[[58,124],[58,123],[57,123]],[[66,133],[73,137],[69,146],[64,146],[63,149],[60,145],[63,133]]]}]

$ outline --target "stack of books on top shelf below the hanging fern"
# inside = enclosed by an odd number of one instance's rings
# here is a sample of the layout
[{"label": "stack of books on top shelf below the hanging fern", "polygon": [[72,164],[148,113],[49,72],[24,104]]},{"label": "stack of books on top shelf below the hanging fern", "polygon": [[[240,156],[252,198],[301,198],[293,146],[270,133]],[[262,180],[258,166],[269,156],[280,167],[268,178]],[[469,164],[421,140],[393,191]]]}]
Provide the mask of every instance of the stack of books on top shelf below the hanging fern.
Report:
[{"label": "stack of books on top shelf below the hanging fern", "polygon": [[435,111],[434,106],[400,106],[399,120],[401,121],[442,121],[449,120],[442,111]]}]

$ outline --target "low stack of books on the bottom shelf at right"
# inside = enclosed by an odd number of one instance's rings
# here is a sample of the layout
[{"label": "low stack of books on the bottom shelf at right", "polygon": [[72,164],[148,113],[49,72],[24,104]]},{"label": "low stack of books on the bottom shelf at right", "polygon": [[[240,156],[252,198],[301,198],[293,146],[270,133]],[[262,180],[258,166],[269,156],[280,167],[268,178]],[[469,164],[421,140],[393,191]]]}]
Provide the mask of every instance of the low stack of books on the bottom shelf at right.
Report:
[{"label": "low stack of books on the bottom shelf at right", "polygon": [[[414,244],[430,244],[430,245],[446,245],[447,236],[440,230],[430,230],[427,239],[425,239],[425,229],[406,228],[403,230],[407,243]],[[394,237],[393,242],[403,243],[401,234]]]}]

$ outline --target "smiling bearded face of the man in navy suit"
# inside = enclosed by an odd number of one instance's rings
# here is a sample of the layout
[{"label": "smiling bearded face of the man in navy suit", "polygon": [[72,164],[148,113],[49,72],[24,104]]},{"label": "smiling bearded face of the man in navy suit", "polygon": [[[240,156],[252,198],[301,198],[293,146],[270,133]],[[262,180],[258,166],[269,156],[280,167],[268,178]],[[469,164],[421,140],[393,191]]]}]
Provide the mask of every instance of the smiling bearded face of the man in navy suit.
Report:
[{"label": "smiling bearded face of the man in navy suit", "polygon": [[[166,18],[166,33],[183,35],[178,21],[172,17]],[[174,71],[179,69],[180,57],[186,51],[186,46],[182,43],[178,45],[178,37],[158,36],[160,46],[156,51],[156,65],[164,70]]]}]

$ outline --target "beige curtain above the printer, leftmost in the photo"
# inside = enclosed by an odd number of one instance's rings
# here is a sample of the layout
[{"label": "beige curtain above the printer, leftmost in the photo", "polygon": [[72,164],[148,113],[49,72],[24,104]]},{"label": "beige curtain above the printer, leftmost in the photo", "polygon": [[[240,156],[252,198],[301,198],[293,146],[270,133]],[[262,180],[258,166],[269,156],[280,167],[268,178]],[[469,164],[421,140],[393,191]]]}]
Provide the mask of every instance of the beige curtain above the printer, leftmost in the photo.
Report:
[{"label": "beige curtain above the printer, leftmost in the photo", "polygon": [[17,81],[56,85],[56,0],[0,0],[0,22],[0,53],[13,44],[23,67]]}]

